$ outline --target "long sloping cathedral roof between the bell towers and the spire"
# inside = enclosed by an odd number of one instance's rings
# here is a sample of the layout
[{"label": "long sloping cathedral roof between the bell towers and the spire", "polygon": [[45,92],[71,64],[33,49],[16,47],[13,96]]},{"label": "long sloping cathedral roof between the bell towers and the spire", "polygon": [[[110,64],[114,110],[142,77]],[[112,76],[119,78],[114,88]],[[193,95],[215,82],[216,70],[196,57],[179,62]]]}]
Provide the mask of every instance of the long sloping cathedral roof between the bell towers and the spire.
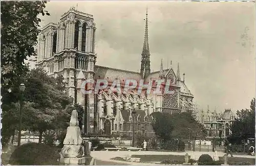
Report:
[{"label": "long sloping cathedral roof between the bell towers and the spire", "polygon": [[97,66],[95,65],[95,79],[109,79],[109,80],[126,80],[126,79],[141,79],[139,72],[127,71],[121,69],[114,69],[109,67]]}]

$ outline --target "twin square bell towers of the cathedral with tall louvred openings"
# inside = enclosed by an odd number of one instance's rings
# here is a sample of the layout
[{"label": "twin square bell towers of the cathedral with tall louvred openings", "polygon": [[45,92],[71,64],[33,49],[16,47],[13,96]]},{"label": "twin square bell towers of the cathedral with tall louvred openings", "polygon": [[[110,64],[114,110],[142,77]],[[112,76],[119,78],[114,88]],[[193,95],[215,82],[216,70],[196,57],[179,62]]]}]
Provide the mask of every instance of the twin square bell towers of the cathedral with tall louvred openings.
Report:
[{"label": "twin square bell towers of the cathedral with tall louvred openings", "polygon": [[95,31],[93,15],[71,7],[60,22],[43,27],[37,46],[36,66],[49,75],[63,75],[67,94],[86,110],[87,132],[94,127],[94,94],[83,94],[81,84],[84,79],[94,78]]}]

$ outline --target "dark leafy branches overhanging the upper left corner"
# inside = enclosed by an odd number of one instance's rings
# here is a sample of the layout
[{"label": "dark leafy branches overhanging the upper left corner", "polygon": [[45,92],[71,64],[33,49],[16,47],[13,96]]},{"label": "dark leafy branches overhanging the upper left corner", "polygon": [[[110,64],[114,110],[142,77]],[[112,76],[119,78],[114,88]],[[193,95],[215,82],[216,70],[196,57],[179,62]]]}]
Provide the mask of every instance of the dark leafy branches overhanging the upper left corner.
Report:
[{"label": "dark leafy branches overhanging the upper left corner", "polygon": [[[19,77],[28,72],[24,64],[27,56],[36,56],[40,19],[46,1],[3,1],[1,2],[1,84],[8,90],[14,87]],[[18,81],[19,82],[19,81]]]}]

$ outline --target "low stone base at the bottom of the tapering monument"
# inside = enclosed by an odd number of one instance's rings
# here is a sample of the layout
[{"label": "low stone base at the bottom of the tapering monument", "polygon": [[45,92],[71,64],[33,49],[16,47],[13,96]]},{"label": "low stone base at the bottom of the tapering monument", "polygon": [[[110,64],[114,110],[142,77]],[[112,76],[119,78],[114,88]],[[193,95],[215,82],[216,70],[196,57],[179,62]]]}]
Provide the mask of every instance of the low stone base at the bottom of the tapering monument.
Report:
[{"label": "low stone base at the bottom of the tapering monument", "polygon": [[65,165],[96,165],[95,158],[91,156],[73,158],[73,157],[65,157],[59,159],[60,163]]}]

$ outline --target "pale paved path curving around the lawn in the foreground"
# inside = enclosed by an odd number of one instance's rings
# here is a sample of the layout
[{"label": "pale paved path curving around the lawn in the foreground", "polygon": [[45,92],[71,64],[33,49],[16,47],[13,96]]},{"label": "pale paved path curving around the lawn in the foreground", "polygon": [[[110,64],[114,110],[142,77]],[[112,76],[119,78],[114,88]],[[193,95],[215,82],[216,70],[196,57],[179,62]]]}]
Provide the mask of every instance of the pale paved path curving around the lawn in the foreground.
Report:
[{"label": "pale paved path curving around the lawn in the foreground", "polygon": [[[191,158],[194,158],[198,160],[198,158],[202,154],[209,154],[212,158],[214,157],[214,152],[193,152],[193,151],[186,151],[186,152],[156,152],[156,151],[92,151],[91,155],[95,157],[97,160],[101,161],[108,161],[108,162],[116,162],[119,164],[129,164],[129,165],[143,165],[145,163],[139,163],[139,162],[128,162],[128,161],[117,161],[117,160],[111,160],[111,158],[114,157],[126,157],[129,155],[185,155],[188,153],[188,155],[191,156]],[[217,156],[223,156],[225,153],[223,152],[217,152]],[[255,158],[255,156],[249,156],[249,155],[233,155],[234,157],[244,157],[244,158]],[[219,157],[218,157],[219,158]],[[98,164],[98,163],[96,163]],[[148,164],[148,163],[147,163]],[[150,163],[151,165],[159,165]]]}]

